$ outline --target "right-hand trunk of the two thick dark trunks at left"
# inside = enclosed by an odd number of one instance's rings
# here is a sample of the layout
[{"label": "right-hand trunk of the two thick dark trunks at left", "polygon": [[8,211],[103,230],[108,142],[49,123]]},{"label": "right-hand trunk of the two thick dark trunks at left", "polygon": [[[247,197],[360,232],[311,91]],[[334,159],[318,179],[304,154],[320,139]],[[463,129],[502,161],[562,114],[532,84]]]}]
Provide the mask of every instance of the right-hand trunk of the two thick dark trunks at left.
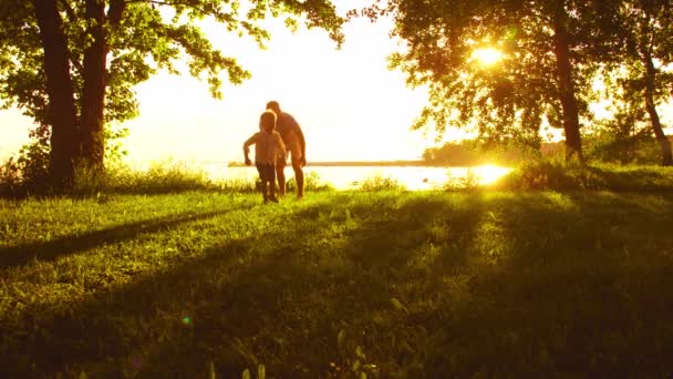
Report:
[{"label": "right-hand trunk of the two thick dark trunks at left", "polygon": [[84,51],[84,85],[80,122],[81,164],[99,173],[104,168],[105,155],[105,86],[107,75],[107,41],[105,37],[105,1],[86,0],[91,45]]}]

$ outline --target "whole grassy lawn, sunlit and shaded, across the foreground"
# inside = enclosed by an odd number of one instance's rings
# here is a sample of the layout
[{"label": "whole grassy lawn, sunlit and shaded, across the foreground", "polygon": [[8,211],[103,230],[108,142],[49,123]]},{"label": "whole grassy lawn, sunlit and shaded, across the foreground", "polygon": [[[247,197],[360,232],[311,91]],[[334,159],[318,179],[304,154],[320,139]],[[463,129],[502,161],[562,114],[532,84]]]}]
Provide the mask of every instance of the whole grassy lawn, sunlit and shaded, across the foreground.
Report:
[{"label": "whole grassy lawn, sunlit and shaded, across the foreground", "polygon": [[0,199],[0,377],[671,377],[673,194]]}]

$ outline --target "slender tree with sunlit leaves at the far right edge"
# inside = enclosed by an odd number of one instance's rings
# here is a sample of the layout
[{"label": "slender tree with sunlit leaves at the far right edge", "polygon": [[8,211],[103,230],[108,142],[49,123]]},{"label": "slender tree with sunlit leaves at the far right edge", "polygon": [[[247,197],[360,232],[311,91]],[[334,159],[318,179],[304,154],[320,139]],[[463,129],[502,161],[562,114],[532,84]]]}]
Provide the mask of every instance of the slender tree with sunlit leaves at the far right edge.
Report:
[{"label": "slender tree with sunlit leaves at the far right edge", "polygon": [[[673,73],[673,11],[670,1],[622,1],[619,12],[621,28],[618,39],[623,47],[612,50],[617,58],[603,68],[604,100],[612,116],[609,127],[617,144],[635,142],[634,136],[654,134],[661,146],[661,162],[673,165],[671,142],[664,134],[658,106],[670,100]],[[646,130],[646,132],[645,132]],[[642,140],[642,137],[640,139]],[[654,142],[654,140],[652,140]],[[631,144],[627,144],[629,147]],[[623,155],[630,156],[629,148]]]}]

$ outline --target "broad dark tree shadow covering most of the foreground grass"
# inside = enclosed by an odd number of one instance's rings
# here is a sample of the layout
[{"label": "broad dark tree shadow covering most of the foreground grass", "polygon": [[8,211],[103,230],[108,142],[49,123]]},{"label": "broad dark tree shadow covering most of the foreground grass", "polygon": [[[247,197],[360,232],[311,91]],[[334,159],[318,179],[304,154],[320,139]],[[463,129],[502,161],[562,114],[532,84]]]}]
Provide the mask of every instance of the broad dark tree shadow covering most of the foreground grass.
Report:
[{"label": "broad dark tree shadow covering most of the foreground grass", "polygon": [[[377,365],[371,377],[665,376],[673,264],[587,246],[623,216],[589,212],[605,207],[596,196],[342,196],[271,215],[292,227],[68,311],[32,309],[51,316],[20,338],[0,327],[13,336],[0,362],[37,377],[197,377],[209,363],[224,377],[257,363],[279,378],[348,377],[355,360]],[[653,221],[620,198],[608,208]]]}]

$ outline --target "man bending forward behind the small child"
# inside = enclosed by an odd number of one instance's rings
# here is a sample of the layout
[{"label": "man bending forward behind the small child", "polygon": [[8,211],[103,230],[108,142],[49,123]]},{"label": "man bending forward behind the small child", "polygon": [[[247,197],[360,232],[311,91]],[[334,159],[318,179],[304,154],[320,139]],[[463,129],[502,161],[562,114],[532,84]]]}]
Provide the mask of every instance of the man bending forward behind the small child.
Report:
[{"label": "man bending forward behind the small child", "polygon": [[[301,167],[307,165],[307,143],[303,139],[301,127],[292,115],[282,112],[277,101],[267,103],[267,110],[273,111],[277,115],[276,131],[280,133],[287,152],[290,154],[294,181],[297,182],[297,198],[303,197],[303,171]],[[276,163],[276,176],[278,177],[279,195],[286,194],[286,157],[279,156]]]}]

